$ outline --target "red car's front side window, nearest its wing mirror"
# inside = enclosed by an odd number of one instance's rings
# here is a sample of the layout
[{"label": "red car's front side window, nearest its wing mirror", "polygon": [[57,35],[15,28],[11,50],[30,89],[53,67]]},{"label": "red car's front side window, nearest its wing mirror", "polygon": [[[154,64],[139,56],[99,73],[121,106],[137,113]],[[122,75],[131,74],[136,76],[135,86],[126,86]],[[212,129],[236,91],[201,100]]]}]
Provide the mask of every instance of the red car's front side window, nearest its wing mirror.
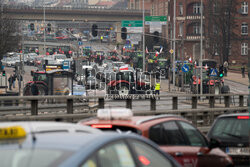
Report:
[{"label": "red car's front side window, nearest its wing mirror", "polygon": [[194,128],[192,125],[179,121],[179,124],[183,128],[191,146],[207,146],[207,142],[202,134]]}]

